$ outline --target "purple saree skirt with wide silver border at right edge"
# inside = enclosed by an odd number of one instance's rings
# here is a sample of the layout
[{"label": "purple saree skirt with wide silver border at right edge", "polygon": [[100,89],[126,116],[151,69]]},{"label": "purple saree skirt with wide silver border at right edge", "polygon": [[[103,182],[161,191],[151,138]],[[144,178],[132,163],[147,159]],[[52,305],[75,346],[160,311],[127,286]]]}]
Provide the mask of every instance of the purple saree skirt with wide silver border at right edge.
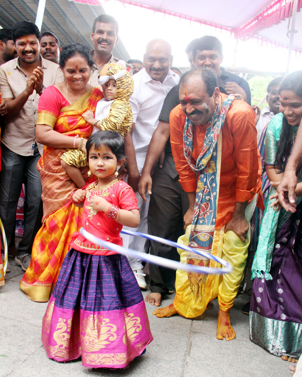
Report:
[{"label": "purple saree skirt with wide silver border at right edge", "polygon": [[251,340],[276,356],[295,358],[302,352],[301,209],[302,203],[278,232],[273,279],[254,279],[250,308]]}]

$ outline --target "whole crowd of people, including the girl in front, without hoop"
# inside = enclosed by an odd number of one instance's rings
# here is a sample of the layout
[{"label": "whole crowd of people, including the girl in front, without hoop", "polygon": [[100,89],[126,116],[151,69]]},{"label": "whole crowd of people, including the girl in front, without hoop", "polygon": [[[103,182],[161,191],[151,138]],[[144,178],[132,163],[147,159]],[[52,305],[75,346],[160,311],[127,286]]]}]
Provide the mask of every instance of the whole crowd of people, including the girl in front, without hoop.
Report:
[{"label": "whole crowd of people, including the girl in front, without hoop", "polygon": [[[142,61],[114,57],[112,16],[95,20],[91,41],[91,51],[61,47],[27,21],[0,30],[0,217],[25,272],[21,290],[49,301],[48,357],[127,366],[153,340],[145,302],[158,307],[158,318],[195,318],[218,298],[216,337],[234,340],[230,312],[242,286],[251,295],[242,309],[251,340],[295,363],[302,353],[302,71],[273,79],[260,109],[251,107],[248,82],[221,66],[216,37],[188,44],[184,73],[163,39],[147,43]],[[150,264],[143,300],[142,260],[89,241],[82,227],[127,249],[219,266],[120,231],[175,241],[233,271],[175,273]],[[174,289],[173,304],[160,308]],[[290,364],[292,374],[302,375],[301,363]]]}]

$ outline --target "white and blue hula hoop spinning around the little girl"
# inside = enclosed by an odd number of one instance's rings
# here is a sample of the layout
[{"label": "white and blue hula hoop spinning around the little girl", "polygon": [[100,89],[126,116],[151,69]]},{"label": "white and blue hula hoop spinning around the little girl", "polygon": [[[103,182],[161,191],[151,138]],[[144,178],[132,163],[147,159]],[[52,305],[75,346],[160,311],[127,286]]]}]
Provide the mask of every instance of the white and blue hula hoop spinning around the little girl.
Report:
[{"label": "white and blue hula hoop spinning around the little girl", "polygon": [[121,233],[134,236],[134,237],[143,237],[147,240],[152,240],[156,242],[161,242],[162,244],[173,246],[179,249],[183,249],[186,251],[193,251],[194,253],[201,255],[205,258],[211,259],[215,262],[220,263],[223,267],[222,268],[216,268],[216,267],[204,267],[204,266],[193,266],[191,264],[186,264],[186,263],[181,263],[177,261],[173,261],[171,259],[167,258],[162,258],[158,257],[156,255],[151,255],[151,254],[145,254],[140,251],[132,250],[132,249],[126,249],[123,246],[115,245],[112,244],[111,242],[101,240],[100,238],[92,235],[91,233],[88,233],[85,231],[83,228],[81,228],[81,234],[84,236],[87,240],[90,242],[93,242],[96,245],[99,245],[101,247],[104,247],[109,250],[113,250],[119,254],[125,255],[126,257],[133,257],[133,258],[139,258],[140,260],[143,260],[145,262],[157,264],[162,267],[166,268],[171,268],[173,270],[182,270],[182,271],[187,271],[187,272],[195,272],[195,273],[202,273],[202,274],[211,274],[211,275],[216,275],[216,274],[226,274],[230,273],[233,271],[233,267],[230,265],[230,263],[222,260],[221,258],[215,257],[211,254],[208,254],[206,252],[201,252],[196,249],[190,248],[189,246],[185,245],[180,245],[176,242],[166,240],[161,237],[156,237],[156,236],[150,236],[146,235],[144,233],[139,233],[139,232],[132,232],[132,231],[126,231],[122,230]]}]

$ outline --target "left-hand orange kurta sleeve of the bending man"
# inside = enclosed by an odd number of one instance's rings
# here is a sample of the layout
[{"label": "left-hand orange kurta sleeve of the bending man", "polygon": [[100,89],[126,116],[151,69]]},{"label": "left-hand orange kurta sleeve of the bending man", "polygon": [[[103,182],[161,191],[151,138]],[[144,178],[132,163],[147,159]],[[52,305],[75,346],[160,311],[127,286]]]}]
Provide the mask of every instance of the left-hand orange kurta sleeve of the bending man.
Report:
[{"label": "left-hand orange kurta sleeve of the bending man", "polygon": [[183,133],[186,116],[180,105],[170,113],[170,141],[176,170],[179,174],[179,182],[186,192],[196,191],[196,173],[190,168],[183,147]]}]

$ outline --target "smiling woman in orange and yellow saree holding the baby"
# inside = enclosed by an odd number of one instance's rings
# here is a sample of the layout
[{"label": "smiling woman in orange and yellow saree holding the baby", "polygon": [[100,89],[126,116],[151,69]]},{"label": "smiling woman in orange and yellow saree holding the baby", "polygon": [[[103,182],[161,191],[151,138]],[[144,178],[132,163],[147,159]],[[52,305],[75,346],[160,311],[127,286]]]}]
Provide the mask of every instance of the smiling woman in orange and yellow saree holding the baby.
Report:
[{"label": "smiling woman in orange and yellow saree holding the baby", "polygon": [[[45,145],[37,166],[43,189],[43,224],[34,240],[30,266],[20,281],[20,288],[33,301],[48,301],[71,236],[82,225],[82,208],[70,200],[77,187],[62,169],[60,157],[69,148],[86,152],[93,126],[82,114],[95,112],[103,98],[99,88],[88,85],[92,65],[86,46],[64,46],[60,66],[65,82],[46,88],[39,99],[36,138]],[[87,172],[88,168],[82,168],[84,179]]]}]

